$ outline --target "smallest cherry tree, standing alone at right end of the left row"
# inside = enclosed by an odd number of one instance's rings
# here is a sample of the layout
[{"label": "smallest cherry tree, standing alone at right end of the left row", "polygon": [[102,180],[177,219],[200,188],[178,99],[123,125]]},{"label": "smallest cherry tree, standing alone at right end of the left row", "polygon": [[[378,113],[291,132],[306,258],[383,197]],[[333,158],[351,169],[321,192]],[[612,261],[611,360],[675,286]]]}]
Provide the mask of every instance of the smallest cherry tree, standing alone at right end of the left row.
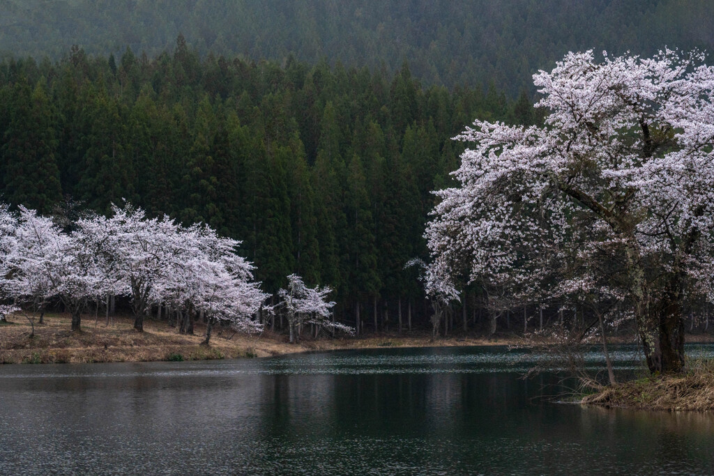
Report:
[{"label": "smallest cherry tree, standing alone at right end of the left row", "polygon": [[290,329],[290,343],[295,343],[300,335],[303,324],[313,324],[318,328],[342,330],[348,334],[353,333],[353,328],[330,320],[333,301],[326,301],[327,295],[332,290],[329,287],[308,288],[303,283],[303,278],[296,274],[288,276],[288,288],[278,290],[280,303],[288,319]]}]

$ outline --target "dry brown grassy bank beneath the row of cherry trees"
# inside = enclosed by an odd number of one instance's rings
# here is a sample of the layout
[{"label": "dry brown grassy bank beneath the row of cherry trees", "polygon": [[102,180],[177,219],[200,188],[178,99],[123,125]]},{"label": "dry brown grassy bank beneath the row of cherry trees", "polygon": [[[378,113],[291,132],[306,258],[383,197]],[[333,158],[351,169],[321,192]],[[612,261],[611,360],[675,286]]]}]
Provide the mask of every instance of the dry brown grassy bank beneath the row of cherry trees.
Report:
[{"label": "dry brown grassy bank beneath the row of cherry trees", "polygon": [[428,347],[462,345],[505,345],[516,339],[486,340],[478,338],[441,338],[429,335],[382,334],[366,338],[336,338],[303,340],[291,345],[284,335],[223,333],[214,330],[211,345],[201,345],[202,323],[196,323],[195,335],[179,334],[164,321],[145,320],[144,333],[133,329],[131,317],[114,318],[106,325],[85,318],[82,331],[73,333],[69,315],[46,315],[45,323],[31,327],[21,315],[9,316],[9,323],[0,326],[0,363],[92,363],[149,362],[155,360],[209,360],[221,358],[267,357],[309,350],[352,348]]}]

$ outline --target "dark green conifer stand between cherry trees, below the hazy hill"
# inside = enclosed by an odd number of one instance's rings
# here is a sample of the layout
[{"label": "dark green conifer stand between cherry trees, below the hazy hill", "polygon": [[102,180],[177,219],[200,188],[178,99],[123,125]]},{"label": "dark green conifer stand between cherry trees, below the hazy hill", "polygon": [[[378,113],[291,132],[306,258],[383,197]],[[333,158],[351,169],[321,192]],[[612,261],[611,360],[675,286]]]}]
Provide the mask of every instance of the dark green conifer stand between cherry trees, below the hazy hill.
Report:
[{"label": "dark green conifer stand between cherry trees, below the hazy hill", "polygon": [[268,292],[298,273],[335,288],[339,320],[406,328],[430,315],[404,265],[426,258],[430,192],[461,152],[451,137],[476,117],[533,123],[532,102],[424,88],[406,64],[201,59],[183,37],[153,60],[75,47],[55,64],[0,64],[0,185],[40,213],[126,199],[208,223],[243,240]]}]

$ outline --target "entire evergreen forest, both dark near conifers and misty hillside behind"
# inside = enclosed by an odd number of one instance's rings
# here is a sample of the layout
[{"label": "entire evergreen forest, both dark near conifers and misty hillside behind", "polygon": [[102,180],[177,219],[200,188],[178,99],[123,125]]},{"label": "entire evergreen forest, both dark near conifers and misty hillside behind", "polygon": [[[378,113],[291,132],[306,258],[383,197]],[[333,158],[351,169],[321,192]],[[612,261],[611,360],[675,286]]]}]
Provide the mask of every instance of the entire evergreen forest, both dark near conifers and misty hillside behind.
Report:
[{"label": "entire evergreen forest, both dark near conifers and misty hillside behind", "polygon": [[[711,49],[713,17],[698,0],[0,0],[2,200],[204,222],[268,293],[296,273],[335,289],[344,323],[428,326],[405,265],[428,258],[453,136],[542,121],[531,76],[565,51]],[[477,290],[451,311],[493,332]]]}]

